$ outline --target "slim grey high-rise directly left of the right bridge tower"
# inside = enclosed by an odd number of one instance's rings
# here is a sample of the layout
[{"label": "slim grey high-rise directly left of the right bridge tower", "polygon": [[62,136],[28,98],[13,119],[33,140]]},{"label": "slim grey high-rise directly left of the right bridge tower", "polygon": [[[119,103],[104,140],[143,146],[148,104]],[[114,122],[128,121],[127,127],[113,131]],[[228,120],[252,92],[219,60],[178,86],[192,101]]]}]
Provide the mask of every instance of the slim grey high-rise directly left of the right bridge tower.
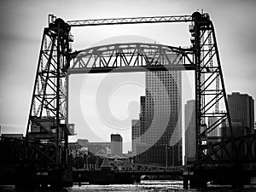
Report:
[{"label": "slim grey high-rise directly left of the right bridge tower", "polygon": [[196,131],[195,131],[195,100],[189,100],[184,109],[185,121],[185,165],[195,162]]}]

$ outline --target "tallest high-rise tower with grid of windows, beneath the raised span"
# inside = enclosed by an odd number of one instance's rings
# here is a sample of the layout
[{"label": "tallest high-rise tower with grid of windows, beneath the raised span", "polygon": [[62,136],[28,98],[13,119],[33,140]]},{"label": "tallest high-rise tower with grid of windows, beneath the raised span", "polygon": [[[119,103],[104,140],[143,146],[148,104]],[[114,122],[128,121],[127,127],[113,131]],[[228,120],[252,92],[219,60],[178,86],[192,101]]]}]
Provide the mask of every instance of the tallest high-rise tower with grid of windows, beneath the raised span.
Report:
[{"label": "tallest high-rise tower with grid of windows, beneath the raised span", "polygon": [[146,73],[143,141],[151,146],[148,163],[182,165],[181,91],[181,72]]}]

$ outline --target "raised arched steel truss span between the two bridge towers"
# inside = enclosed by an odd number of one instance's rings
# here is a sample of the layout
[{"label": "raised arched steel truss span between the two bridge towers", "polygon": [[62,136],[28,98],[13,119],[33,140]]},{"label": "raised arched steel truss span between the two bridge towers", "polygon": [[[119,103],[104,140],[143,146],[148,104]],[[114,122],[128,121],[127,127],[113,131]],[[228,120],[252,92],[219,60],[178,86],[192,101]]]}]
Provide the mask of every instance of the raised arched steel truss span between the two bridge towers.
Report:
[{"label": "raised arched steel truss span between the two bridge towers", "polygon": [[[113,70],[114,69],[114,70]],[[68,73],[195,70],[193,49],[162,44],[108,44],[73,53]]]}]

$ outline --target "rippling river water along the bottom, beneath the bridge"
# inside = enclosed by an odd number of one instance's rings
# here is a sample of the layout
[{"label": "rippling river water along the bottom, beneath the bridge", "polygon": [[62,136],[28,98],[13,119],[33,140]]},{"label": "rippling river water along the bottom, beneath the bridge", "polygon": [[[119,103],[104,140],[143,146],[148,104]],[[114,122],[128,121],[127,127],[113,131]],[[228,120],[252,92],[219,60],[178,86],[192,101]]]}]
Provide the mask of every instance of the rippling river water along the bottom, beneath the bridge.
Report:
[{"label": "rippling river water along the bottom, beneath the bridge", "polygon": [[[0,191],[15,192],[14,187],[9,186],[5,188],[0,187]],[[65,190],[46,190],[46,192],[147,192],[147,191],[186,191],[186,192],[256,192],[256,185],[246,185],[244,189],[231,189],[230,186],[214,186],[208,185],[207,189],[183,189],[182,181],[170,181],[170,180],[154,180],[154,181],[142,181],[142,183],[137,184],[110,184],[110,185],[91,185],[83,183],[81,186],[74,184],[73,187],[67,188]],[[39,192],[44,192],[44,190],[39,190]]]}]

